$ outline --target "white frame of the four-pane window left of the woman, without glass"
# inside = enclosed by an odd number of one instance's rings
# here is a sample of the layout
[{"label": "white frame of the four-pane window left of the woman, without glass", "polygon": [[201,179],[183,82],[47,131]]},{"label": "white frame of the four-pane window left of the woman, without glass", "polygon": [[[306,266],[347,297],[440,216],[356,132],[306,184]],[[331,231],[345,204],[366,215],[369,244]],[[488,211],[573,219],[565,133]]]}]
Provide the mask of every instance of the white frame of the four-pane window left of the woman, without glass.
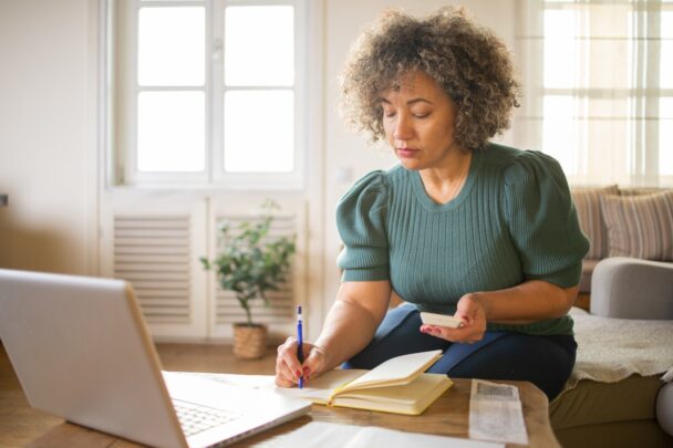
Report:
[{"label": "white frame of the four-pane window left of the woman, without glass", "polygon": [[[289,86],[225,85],[225,11],[228,7],[291,6],[294,12],[294,81]],[[203,86],[138,84],[138,17],[141,8],[205,9],[205,80]],[[301,190],[307,165],[306,0],[111,0],[108,2],[108,184],[113,187],[216,188],[227,190]],[[288,173],[230,173],[224,167],[224,97],[228,90],[287,90],[293,93],[293,169]],[[198,173],[141,171],[137,168],[137,104],[141,92],[188,91],[205,95],[205,169]]]}]

